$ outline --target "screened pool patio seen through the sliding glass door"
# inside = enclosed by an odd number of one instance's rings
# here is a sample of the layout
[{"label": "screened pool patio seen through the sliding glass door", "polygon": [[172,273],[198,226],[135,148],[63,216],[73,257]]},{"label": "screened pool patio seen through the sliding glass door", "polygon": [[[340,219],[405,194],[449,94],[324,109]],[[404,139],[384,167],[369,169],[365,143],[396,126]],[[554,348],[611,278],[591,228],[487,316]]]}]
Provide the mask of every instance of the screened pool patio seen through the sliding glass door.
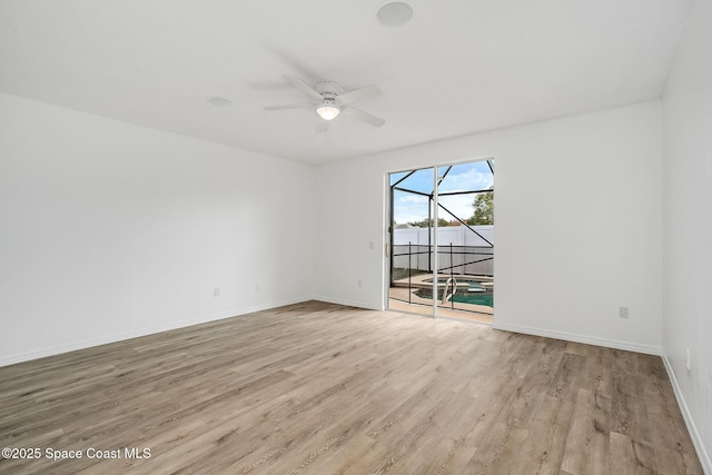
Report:
[{"label": "screened pool patio seen through the sliding glass door", "polygon": [[491,323],[494,160],[389,175],[388,307]]}]

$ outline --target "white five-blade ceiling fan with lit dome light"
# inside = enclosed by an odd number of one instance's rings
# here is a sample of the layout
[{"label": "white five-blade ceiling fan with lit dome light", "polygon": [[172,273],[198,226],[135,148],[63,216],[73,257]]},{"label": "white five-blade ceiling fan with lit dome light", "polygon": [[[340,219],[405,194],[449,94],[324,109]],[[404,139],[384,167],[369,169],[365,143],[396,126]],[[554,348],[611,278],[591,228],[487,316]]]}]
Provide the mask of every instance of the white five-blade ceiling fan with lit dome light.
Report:
[{"label": "white five-blade ceiling fan with lit dome light", "polygon": [[355,117],[375,127],[380,127],[386,123],[386,121],[379,117],[372,116],[368,112],[349,106],[359,99],[380,96],[380,89],[376,86],[366,86],[344,92],[344,86],[334,81],[322,81],[312,87],[296,76],[285,76],[285,79],[291,82],[297,89],[306,92],[306,95],[312,98],[312,101],[286,106],[268,106],[265,107],[265,110],[315,108],[316,113],[326,121],[334,120],[336,116],[344,112],[347,116]]}]

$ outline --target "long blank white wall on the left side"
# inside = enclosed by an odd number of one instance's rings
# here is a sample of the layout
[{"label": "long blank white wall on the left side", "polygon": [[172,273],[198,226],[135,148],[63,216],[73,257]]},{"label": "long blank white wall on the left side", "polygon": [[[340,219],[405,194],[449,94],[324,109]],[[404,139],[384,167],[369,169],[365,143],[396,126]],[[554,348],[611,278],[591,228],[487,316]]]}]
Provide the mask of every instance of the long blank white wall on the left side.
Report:
[{"label": "long blank white wall on the left side", "polygon": [[0,364],[309,298],[313,186],[313,167],[0,95]]}]

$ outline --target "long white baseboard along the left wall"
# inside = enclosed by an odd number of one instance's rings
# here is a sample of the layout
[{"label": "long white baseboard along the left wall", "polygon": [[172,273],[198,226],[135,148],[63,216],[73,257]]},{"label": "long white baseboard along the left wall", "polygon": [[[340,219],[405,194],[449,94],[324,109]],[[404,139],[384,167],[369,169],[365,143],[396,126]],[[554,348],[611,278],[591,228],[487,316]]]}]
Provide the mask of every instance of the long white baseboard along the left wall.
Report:
[{"label": "long white baseboard along the left wall", "polygon": [[221,320],[224,318],[237,317],[239,315],[254,314],[256,311],[269,310],[277,307],[284,307],[285,305],[300,304],[303,301],[312,300],[312,297],[293,298],[280,301],[274,301],[269,304],[255,305],[251,307],[238,308],[230,311],[221,311],[219,314],[204,315],[196,318],[189,318],[186,320],[170,321],[164,325],[157,325],[152,327],[139,328],[132,331],[122,331],[112,335],[105,335],[98,338],[85,339],[79,342],[71,342],[66,345],[59,345],[48,348],[33,349],[26,353],[19,353],[14,355],[6,355],[0,357],[0,367],[13,365],[16,363],[29,362],[31,359],[43,358],[46,356],[55,356],[62,353],[75,352],[77,349],[90,348],[92,346],[107,345],[109,343],[122,342],[125,339],[137,338],[140,336],[152,335],[161,331],[174,330],[177,328],[185,328],[191,325],[205,324],[208,321]]}]

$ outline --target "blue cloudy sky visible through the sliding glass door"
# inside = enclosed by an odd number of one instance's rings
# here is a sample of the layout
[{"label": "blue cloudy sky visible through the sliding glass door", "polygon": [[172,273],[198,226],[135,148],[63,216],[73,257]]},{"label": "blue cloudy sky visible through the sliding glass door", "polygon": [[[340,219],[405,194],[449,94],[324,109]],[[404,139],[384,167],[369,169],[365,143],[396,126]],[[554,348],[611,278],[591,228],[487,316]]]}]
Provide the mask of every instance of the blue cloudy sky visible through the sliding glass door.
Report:
[{"label": "blue cloudy sky visible through the sliding glass door", "polygon": [[[444,174],[447,168],[448,167],[439,167],[438,174]],[[392,174],[390,184],[395,184],[405,175],[407,175],[407,172]],[[453,166],[451,171],[442,181],[438,191],[481,190],[487,189],[493,185],[494,176],[490,171],[487,162],[474,161]],[[426,168],[417,170],[406,180],[402,181],[398,187],[431,194],[433,190],[433,169]],[[463,220],[466,220],[474,212],[472,204],[475,200],[475,194],[443,196],[441,197],[441,204]],[[393,205],[395,221],[399,225],[427,219],[428,198],[425,196],[395,190]],[[453,219],[453,217],[442,208],[439,210],[439,217],[447,219],[448,221]]]}]

